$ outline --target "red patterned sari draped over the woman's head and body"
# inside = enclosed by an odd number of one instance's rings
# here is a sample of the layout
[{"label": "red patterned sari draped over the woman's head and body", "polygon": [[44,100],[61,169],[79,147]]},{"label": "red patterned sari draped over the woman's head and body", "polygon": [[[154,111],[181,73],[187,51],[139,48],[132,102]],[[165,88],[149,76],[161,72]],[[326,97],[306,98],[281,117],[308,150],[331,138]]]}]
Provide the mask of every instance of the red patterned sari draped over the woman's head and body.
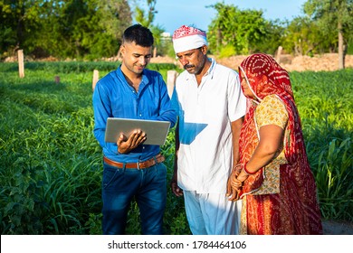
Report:
[{"label": "red patterned sari draped over the woman's head and body", "polygon": [[[253,54],[246,58],[239,67],[239,71],[243,72],[245,80],[256,97],[253,98],[251,103],[248,103],[247,113],[243,122],[239,142],[241,164],[246,164],[250,160],[256,146],[259,144],[258,129],[254,116],[256,107],[261,103],[262,99],[275,94],[281,99],[289,115],[287,123],[289,135],[286,136],[283,144],[288,164],[281,164],[280,193],[256,195],[265,180],[263,173],[263,170],[266,169],[265,167],[257,173],[249,175],[244,182],[243,190],[240,192],[241,198],[250,194],[249,198],[244,201],[248,211],[249,205],[252,205],[251,211],[256,210],[258,212],[251,214],[253,215],[253,220],[249,218],[248,213],[248,224],[249,222],[259,223],[253,225],[253,227],[256,227],[254,229],[256,231],[250,233],[320,234],[322,228],[320,209],[316,198],[316,185],[305,151],[301,132],[301,119],[294,103],[288,72],[283,70],[271,56],[262,53]],[[267,77],[267,80],[262,79],[263,75]],[[294,197],[291,192],[298,192],[298,195]],[[264,203],[264,199],[267,200],[266,203]],[[276,206],[276,203],[278,203],[278,206]],[[266,208],[263,208],[263,206],[266,206]],[[263,211],[264,209],[267,210],[267,213]],[[287,210],[282,211],[281,209]],[[288,217],[288,220],[283,221],[280,217],[283,215],[292,215],[293,217]],[[307,217],[310,217],[309,220]],[[261,224],[262,222],[266,223],[263,220],[267,220],[268,224]],[[286,223],[285,226],[280,225],[284,223]],[[280,228],[281,226],[283,228]],[[267,230],[264,230],[264,227],[267,227]]]}]

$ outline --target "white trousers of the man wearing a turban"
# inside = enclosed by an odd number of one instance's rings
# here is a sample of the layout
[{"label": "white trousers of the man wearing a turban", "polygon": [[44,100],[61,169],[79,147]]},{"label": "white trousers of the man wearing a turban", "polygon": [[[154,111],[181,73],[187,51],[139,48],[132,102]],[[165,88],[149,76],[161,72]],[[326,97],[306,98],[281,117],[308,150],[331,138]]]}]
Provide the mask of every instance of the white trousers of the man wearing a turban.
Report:
[{"label": "white trousers of the man wearing a turban", "polygon": [[184,191],[186,217],[194,235],[237,235],[242,201],[225,194]]}]

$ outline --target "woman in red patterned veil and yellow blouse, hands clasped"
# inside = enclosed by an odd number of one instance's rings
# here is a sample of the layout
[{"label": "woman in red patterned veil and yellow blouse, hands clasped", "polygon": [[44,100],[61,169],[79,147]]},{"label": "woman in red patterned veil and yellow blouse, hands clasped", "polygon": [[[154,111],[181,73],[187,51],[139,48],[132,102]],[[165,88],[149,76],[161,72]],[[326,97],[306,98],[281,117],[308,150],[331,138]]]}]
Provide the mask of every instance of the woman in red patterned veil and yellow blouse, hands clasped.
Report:
[{"label": "woman in red patterned veil and yellow blouse, hands clasped", "polygon": [[230,182],[243,199],[241,234],[322,234],[290,77],[271,56],[257,53],[239,67],[249,98],[240,136],[238,171]]}]

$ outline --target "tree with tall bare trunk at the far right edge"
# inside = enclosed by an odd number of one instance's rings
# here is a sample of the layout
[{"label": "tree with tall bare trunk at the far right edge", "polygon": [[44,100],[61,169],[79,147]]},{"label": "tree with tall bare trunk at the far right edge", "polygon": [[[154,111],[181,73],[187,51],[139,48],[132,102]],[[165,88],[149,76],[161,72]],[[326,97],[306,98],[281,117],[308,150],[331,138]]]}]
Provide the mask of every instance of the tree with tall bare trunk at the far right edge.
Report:
[{"label": "tree with tall bare trunk at the far right edge", "polygon": [[344,69],[348,37],[353,28],[353,0],[309,0],[304,4],[304,13],[318,23],[323,33],[336,31],[339,69]]}]

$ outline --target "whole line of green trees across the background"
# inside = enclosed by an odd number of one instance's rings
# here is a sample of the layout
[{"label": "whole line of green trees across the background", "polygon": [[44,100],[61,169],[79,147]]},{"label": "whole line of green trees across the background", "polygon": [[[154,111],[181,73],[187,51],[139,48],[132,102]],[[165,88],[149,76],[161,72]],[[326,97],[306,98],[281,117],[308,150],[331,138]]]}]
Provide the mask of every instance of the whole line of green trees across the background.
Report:
[{"label": "whole line of green trees across the background", "polygon": [[[148,26],[157,54],[173,54],[163,25],[155,24],[157,0],[0,0],[1,59],[23,49],[33,58],[95,60],[118,52],[121,33],[132,23]],[[145,6],[145,7],[142,7]],[[266,20],[262,10],[240,10],[224,2],[208,27],[212,53],[221,57],[267,52],[313,55],[353,53],[353,0],[308,0],[291,21]],[[172,10],[171,10],[172,11]]]}]

